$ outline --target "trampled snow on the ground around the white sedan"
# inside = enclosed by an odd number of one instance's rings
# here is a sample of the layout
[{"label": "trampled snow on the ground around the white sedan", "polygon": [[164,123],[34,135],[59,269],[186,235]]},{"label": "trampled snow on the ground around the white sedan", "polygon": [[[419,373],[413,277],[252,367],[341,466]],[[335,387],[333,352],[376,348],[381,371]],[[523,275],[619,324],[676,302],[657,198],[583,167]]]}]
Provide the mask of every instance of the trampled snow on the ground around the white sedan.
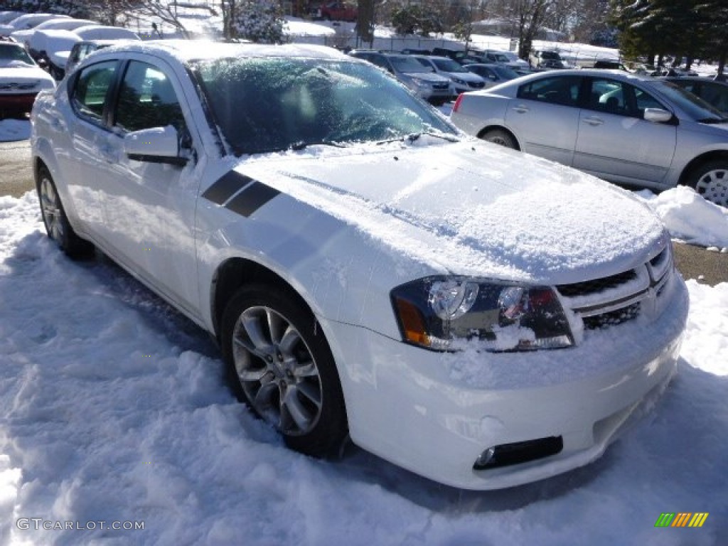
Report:
[{"label": "trampled snow on the ground around the white sedan", "polygon": [[[105,259],[68,261],[32,192],[0,197],[0,543],[716,545],[728,284],[688,286],[681,368],[654,411],[595,464],[473,493],[355,448],[288,451],[226,390],[205,333]],[[710,515],[656,529],[663,512]],[[82,530],[43,529],[56,521]]]}]

